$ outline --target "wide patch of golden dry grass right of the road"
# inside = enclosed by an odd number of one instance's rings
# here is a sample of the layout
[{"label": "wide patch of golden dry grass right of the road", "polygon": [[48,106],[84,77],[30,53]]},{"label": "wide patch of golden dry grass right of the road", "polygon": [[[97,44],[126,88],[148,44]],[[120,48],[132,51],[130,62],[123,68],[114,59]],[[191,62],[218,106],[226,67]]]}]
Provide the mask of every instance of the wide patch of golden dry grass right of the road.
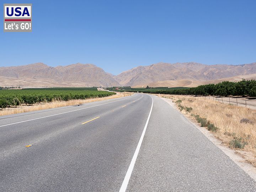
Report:
[{"label": "wide patch of golden dry grass right of the road", "polygon": [[[243,156],[246,161],[256,166],[256,110],[239,107],[234,105],[222,104],[213,100],[199,97],[177,96],[177,95],[161,95],[163,97],[172,98],[173,102],[181,100],[180,104],[185,108],[192,108],[190,112],[182,110],[190,118],[194,118],[191,114],[199,115],[206,118],[209,123],[218,127],[216,138],[231,147],[231,141],[238,139],[245,144]],[[245,119],[247,119],[245,121]],[[247,155],[245,155],[245,151]],[[250,155],[251,154],[251,155]]]}]

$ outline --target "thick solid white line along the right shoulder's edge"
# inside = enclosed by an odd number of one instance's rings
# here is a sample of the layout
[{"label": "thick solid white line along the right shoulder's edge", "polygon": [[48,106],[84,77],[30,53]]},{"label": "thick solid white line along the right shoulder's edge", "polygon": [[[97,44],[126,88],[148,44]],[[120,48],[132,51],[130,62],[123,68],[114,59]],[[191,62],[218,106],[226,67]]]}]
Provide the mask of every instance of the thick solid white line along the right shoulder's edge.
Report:
[{"label": "thick solid white line along the right shoulder's edge", "polygon": [[146,128],[148,127],[149,118],[150,118],[150,115],[151,115],[151,112],[152,112],[152,108],[153,108],[154,100],[153,100],[153,97],[151,97],[151,98],[152,98],[152,105],[151,105],[151,109],[150,109],[150,112],[149,112],[148,119],[146,121],[146,124],[145,124],[145,127],[143,129],[142,135],[140,136],[139,143],[138,143],[137,148],[136,148],[136,150],[134,152],[132,161],[130,162],[130,166],[129,166],[127,172],[126,172],[126,176],[124,177],[124,180],[123,180],[123,183],[122,183],[122,186],[121,186],[119,192],[125,192],[126,191],[127,185],[129,183],[129,180],[130,180],[130,176],[132,175],[133,167],[135,165],[137,156],[139,154],[140,146],[142,144],[142,140],[144,138],[144,135],[145,135],[145,132],[146,132]]}]

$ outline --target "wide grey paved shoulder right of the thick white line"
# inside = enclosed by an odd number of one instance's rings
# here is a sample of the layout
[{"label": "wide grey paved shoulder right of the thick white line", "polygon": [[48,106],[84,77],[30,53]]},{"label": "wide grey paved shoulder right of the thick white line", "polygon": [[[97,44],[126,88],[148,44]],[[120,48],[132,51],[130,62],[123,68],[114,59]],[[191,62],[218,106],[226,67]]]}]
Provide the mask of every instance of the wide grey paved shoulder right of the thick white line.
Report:
[{"label": "wide grey paved shoulder right of the thick white line", "polygon": [[256,191],[256,182],[157,96],[127,191]]}]

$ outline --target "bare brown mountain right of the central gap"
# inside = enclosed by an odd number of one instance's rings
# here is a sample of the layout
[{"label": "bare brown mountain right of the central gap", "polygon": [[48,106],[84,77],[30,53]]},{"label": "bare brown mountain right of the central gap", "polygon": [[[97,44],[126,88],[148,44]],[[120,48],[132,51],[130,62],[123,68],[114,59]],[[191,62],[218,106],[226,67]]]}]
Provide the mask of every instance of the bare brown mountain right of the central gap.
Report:
[{"label": "bare brown mountain right of the central gap", "polygon": [[204,65],[193,62],[157,63],[124,71],[114,76],[114,79],[122,86],[142,86],[161,81],[210,81],[250,74],[256,74],[256,63],[243,65]]}]

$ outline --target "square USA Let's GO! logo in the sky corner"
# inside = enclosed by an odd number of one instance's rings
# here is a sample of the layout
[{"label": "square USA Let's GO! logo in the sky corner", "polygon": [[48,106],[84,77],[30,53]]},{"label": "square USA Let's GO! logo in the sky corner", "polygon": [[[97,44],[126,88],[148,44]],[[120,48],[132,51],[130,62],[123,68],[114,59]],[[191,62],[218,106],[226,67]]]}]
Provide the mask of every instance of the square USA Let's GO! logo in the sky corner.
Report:
[{"label": "square USA Let's GO! logo in the sky corner", "polygon": [[31,32],[32,4],[4,4],[4,32]]}]

